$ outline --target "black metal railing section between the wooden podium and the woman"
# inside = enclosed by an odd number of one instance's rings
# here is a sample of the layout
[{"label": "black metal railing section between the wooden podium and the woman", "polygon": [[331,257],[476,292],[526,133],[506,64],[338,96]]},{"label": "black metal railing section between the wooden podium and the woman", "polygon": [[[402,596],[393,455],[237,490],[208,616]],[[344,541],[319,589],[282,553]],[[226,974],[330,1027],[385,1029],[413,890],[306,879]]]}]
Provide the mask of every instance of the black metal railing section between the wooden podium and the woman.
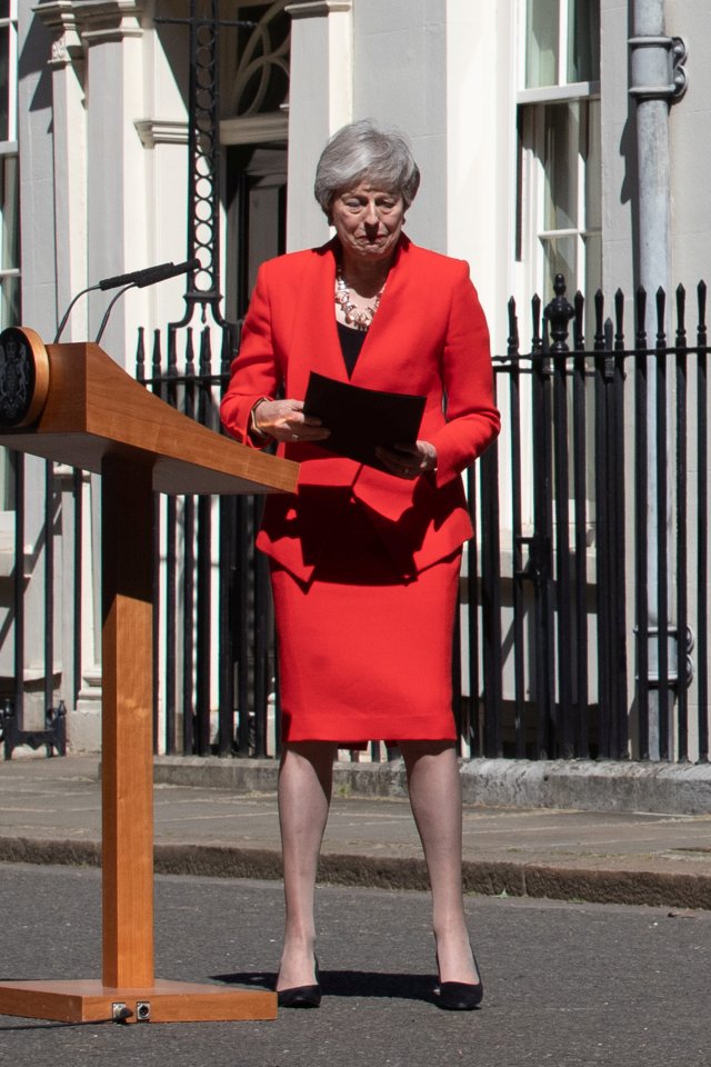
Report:
[{"label": "black metal railing section between the wooden podium and the woman", "polygon": [[[221,351],[213,360],[216,337]],[[137,378],[217,430],[236,345],[236,327],[204,326],[197,336],[190,327],[171,328],[163,357],[156,332],[149,373],[141,333]],[[261,508],[259,497],[157,499],[153,710],[160,750],[276,751],[278,738],[268,730],[276,700],[271,598],[266,560],[254,551]]]}]

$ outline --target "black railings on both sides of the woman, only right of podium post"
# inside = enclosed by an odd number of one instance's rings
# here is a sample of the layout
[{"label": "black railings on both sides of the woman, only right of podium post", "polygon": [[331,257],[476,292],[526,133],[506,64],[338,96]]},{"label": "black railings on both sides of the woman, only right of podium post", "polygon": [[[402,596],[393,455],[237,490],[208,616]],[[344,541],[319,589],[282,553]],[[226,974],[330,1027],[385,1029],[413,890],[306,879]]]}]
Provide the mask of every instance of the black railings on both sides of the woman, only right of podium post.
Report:
[{"label": "black railings on both sides of the woman, only right of podium post", "polygon": [[[705,288],[698,290],[693,347],[685,339],[683,290],[677,293],[673,346],[664,328],[663,295],[657,295],[652,348],[642,291],[632,301],[634,343],[627,348],[622,293],[615,295],[613,318],[605,318],[602,295],[595,295],[594,336],[588,347],[583,298],[578,293],[569,303],[560,277],[555,290],[545,309],[538,298],[532,302],[525,352],[520,350],[515,305],[509,305],[508,351],[494,360],[504,432],[467,473],[477,532],[462,578],[454,656],[462,751],[705,760]],[[207,413],[208,425],[216,427],[233,337],[226,338],[220,371],[212,373],[210,336],[206,328],[199,373],[188,333],[183,375],[174,363],[173,336],[167,367],[161,366],[157,341],[151,378],[141,370],[141,357],[139,378],[187,413],[202,411],[203,420]],[[690,361],[695,362],[698,385],[692,412],[687,397]],[[650,433],[664,442],[651,459]],[[650,531],[652,491],[655,518]],[[691,527],[690,498],[695,508]],[[279,739],[273,724],[268,725],[278,701],[271,604],[266,567],[252,548],[260,502],[220,501],[219,552],[213,549],[210,564],[204,546],[214,507],[186,500],[169,505],[166,512],[171,530],[167,544],[182,539],[184,547],[179,550],[181,562],[174,548],[164,562],[164,574],[173,577],[167,577],[160,612],[167,657],[160,698],[163,744],[168,751],[182,747],[264,755],[278,749]],[[192,560],[193,545],[202,545],[202,564]],[[689,604],[692,549],[700,580]],[[209,605],[210,567],[219,574],[217,608]],[[169,651],[169,635],[178,634],[174,589],[181,568],[183,645]],[[196,650],[198,640],[202,645]],[[199,672],[210,650],[214,660],[216,647],[219,681],[210,684]],[[178,660],[183,671],[176,680]],[[210,694],[216,706],[216,692],[217,710],[210,714]],[[182,740],[174,730],[180,717]]]}]

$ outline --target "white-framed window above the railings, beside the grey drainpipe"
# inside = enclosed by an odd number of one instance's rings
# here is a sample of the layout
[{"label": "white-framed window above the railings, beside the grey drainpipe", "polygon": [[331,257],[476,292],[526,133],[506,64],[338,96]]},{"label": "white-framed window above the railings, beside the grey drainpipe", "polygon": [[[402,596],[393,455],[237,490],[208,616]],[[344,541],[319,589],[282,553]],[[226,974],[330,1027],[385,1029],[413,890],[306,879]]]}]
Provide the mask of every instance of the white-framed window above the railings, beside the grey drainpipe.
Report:
[{"label": "white-framed window above the railings, beside the grey drainpipe", "polygon": [[522,0],[517,259],[544,301],[601,282],[600,0]]}]

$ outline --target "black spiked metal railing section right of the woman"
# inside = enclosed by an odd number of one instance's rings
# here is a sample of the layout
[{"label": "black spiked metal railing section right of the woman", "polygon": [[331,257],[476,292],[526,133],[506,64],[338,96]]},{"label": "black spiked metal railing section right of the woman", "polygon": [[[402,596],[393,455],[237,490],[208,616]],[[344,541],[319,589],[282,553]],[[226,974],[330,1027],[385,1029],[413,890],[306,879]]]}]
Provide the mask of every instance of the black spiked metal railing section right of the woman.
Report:
[{"label": "black spiked metal railing section right of the woman", "polygon": [[582,297],[571,306],[560,276],[555,290],[543,316],[533,301],[524,353],[510,303],[494,360],[505,429],[481,462],[482,486],[498,489],[480,498],[481,605],[468,598],[483,632],[472,750],[707,761],[705,287],[693,347],[683,289],[673,343],[657,293],[653,347],[640,290],[630,349],[621,292],[614,319],[595,295],[588,348]]}]

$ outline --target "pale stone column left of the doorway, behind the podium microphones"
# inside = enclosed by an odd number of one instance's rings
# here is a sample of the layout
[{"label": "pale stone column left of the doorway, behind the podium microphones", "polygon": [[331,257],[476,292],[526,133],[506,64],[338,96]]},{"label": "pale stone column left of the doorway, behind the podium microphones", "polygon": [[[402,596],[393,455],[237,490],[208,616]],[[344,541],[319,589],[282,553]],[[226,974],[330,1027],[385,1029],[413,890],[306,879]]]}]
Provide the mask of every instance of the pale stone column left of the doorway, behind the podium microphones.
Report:
[{"label": "pale stone column left of the doorway, behind the podium microphones", "polygon": [[[48,56],[52,81],[50,197],[53,195],[58,316],[72,296],[100,278],[147,266],[143,147],[133,124],[144,113],[141,10],[133,0],[53,0],[37,8],[52,34]],[[80,300],[62,340],[96,336],[108,296],[94,293]],[[132,292],[130,297],[117,305],[102,341],[114,359],[129,366],[143,310],[142,295]],[[52,339],[51,328],[47,339]],[[61,487],[66,536],[58,547],[62,594],[58,617],[62,625],[57,658],[64,665],[71,664],[73,651],[72,534],[80,536],[84,546],[81,678],[74,679],[71,669],[62,671],[61,695],[69,707],[71,747],[97,750],[102,697],[99,482],[96,477],[82,479],[82,530],[71,529],[72,500],[66,479]],[[41,579],[39,569],[33,578]],[[41,582],[36,585],[41,588]],[[77,706],[71,707],[76,688]]]}]

